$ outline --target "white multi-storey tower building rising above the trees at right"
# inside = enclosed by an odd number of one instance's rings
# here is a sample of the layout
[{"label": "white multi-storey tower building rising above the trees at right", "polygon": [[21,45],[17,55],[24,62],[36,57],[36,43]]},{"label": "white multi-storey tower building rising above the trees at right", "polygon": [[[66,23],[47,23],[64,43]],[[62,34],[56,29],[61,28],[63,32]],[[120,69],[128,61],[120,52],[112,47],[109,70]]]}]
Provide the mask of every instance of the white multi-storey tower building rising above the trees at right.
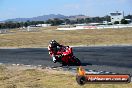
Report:
[{"label": "white multi-storey tower building rising above the trees at right", "polygon": [[114,24],[115,22],[119,22],[121,23],[121,20],[124,19],[124,12],[113,12],[110,13],[110,17],[111,17],[111,23]]}]

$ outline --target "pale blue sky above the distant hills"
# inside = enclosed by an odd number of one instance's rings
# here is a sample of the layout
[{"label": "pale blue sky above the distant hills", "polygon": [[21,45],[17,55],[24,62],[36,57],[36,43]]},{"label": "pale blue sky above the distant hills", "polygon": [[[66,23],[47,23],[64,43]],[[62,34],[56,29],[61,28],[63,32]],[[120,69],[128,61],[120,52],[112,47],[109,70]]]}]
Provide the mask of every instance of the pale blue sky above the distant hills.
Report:
[{"label": "pale blue sky above the distant hills", "polygon": [[132,14],[132,0],[0,0],[0,21],[48,14],[105,16]]}]

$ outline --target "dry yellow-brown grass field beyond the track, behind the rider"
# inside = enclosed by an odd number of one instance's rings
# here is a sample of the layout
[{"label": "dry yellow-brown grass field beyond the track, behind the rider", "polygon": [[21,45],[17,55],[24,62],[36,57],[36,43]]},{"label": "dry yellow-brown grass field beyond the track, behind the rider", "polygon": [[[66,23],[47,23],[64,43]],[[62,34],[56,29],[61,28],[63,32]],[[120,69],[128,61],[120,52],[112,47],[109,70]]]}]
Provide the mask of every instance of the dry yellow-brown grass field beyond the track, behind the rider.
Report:
[{"label": "dry yellow-brown grass field beyond the track, behind the rider", "polygon": [[36,31],[11,30],[0,34],[0,47],[47,47],[55,39],[64,45],[132,45],[132,28],[58,31],[38,28]]}]

